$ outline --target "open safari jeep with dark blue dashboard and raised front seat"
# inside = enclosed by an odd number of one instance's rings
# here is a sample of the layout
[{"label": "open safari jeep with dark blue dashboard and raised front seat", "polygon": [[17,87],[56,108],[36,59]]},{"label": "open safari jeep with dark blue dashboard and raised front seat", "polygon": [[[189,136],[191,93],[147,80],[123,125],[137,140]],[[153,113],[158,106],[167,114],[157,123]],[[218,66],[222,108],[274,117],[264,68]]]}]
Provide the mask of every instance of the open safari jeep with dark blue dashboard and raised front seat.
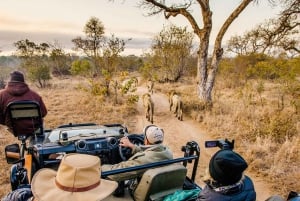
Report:
[{"label": "open safari jeep with dark blue dashboard and raised front seat", "polygon": [[[39,107],[32,101],[14,102],[9,105],[8,112],[12,127],[21,125],[22,121],[34,122],[33,133],[22,133],[22,129],[14,128],[14,135],[21,143],[7,145],[5,148],[7,162],[12,164],[12,190],[30,184],[32,176],[40,168],[56,169],[64,154],[91,154],[99,156],[102,164],[115,164],[131,156],[129,148],[119,146],[120,138],[127,136],[134,144],[144,143],[143,134],[128,133],[128,129],[122,124],[70,123],[54,129],[44,129]],[[28,145],[30,138],[31,144]],[[145,170],[134,191],[125,193],[122,198],[111,196],[108,199],[162,200],[178,190],[200,189],[194,182],[200,148],[196,142],[191,141],[180,149],[183,152],[181,158],[102,172],[101,177],[106,178],[113,174]],[[191,168],[187,168],[189,164]],[[188,169],[192,172],[188,173]]]}]

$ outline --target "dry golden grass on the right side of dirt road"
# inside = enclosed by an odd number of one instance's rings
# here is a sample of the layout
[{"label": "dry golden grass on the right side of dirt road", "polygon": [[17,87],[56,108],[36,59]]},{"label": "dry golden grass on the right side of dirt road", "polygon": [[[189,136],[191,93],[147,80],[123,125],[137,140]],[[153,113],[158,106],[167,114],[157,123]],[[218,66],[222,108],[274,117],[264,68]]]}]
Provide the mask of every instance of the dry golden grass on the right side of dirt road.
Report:
[{"label": "dry golden grass on the right side of dirt road", "polygon": [[274,193],[286,197],[291,190],[299,191],[300,114],[292,105],[295,97],[284,94],[282,108],[280,84],[266,82],[259,94],[257,81],[226,88],[229,85],[219,78],[213,108],[205,111],[198,102],[193,80],[182,83],[157,87],[163,93],[179,91],[184,100],[184,115],[197,120],[207,133],[219,139],[235,139],[236,150],[248,161],[249,171],[263,177]]}]

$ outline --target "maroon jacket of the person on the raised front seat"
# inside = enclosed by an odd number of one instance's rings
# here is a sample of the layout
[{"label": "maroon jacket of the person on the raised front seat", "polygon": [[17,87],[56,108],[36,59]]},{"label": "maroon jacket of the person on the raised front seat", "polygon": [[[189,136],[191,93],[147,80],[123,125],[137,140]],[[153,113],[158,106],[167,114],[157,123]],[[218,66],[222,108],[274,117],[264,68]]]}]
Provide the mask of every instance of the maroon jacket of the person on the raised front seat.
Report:
[{"label": "maroon jacket of the person on the raised front seat", "polygon": [[[8,114],[6,114],[6,108],[10,102],[21,100],[32,100],[38,102],[41,108],[42,117],[47,115],[47,109],[42,97],[31,90],[26,83],[8,82],[6,88],[0,91],[0,124],[4,124],[8,128],[12,129]],[[23,125],[23,127],[28,128],[30,127],[29,124],[31,123],[28,122],[28,125]]]}]

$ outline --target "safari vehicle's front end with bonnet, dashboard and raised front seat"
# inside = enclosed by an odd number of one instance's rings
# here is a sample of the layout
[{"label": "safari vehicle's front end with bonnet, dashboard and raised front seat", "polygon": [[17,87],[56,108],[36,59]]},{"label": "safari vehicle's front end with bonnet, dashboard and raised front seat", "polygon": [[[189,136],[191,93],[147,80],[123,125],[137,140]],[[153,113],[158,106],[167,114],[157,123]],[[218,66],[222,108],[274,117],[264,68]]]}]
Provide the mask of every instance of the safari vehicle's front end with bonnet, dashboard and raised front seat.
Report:
[{"label": "safari vehicle's front end with bonnet, dashboard and raised front seat", "polygon": [[[142,134],[129,134],[122,124],[70,123],[44,129],[39,105],[34,101],[12,102],[7,112],[13,134],[21,141],[21,146],[15,143],[5,147],[7,162],[14,164],[11,168],[12,190],[20,184],[30,183],[40,168],[56,169],[64,154],[92,154],[99,156],[102,164],[115,164],[127,160],[131,153],[130,149],[119,146],[120,138],[128,136],[134,144],[144,143]],[[32,129],[22,129],[26,121],[32,122]],[[28,147],[26,141],[30,138],[34,143]]]}]

